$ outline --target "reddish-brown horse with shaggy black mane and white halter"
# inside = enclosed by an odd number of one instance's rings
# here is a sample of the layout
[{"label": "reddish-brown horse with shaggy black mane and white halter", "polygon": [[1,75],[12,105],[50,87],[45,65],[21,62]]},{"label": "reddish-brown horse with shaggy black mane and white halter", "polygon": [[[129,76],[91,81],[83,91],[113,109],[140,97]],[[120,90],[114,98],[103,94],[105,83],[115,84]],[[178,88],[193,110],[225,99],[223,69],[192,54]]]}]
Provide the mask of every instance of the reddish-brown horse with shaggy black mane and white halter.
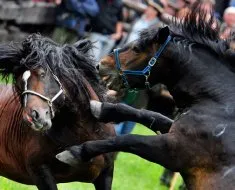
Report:
[{"label": "reddish-brown horse with shaggy black mane and white halter", "polygon": [[106,99],[91,48],[88,40],[62,46],[39,34],[0,45],[0,73],[13,81],[0,87],[1,176],[39,190],[72,181],[111,189],[112,153],[75,168],[55,158],[74,144],[115,136],[90,112],[90,99]]}]

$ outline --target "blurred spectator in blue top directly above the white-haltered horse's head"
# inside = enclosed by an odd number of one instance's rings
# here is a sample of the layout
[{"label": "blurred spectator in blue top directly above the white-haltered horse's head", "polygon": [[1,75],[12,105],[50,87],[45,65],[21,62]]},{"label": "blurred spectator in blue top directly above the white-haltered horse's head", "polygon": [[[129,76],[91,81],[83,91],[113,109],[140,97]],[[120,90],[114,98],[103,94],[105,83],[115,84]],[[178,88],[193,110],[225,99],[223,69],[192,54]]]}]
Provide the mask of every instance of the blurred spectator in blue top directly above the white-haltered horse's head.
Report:
[{"label": "blurred spectator in blue top directly above the white-haltered horse's head", "polygon": [[63,0],[57,10],[57,28],[53,39],[58,43],[73,43],[84,36],[89,18],[99,13],[96,0]]}]

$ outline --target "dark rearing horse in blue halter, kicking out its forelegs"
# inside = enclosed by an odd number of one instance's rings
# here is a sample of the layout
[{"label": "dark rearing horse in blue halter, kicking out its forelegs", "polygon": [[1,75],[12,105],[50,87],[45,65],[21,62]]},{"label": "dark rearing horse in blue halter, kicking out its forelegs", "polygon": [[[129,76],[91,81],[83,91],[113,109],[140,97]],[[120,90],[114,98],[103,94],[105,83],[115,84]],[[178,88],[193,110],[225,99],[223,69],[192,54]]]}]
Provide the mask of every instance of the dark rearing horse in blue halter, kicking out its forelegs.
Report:
[{"label": "dark rearing horse in blue halter, kicking out its forelegs", "polygon": [[[165,84],[181,109],[168,133],[88,141],[57,157],[69,153],[71,160],[86,162],[102,153],[130,152],[180,172],[188,189],[234,189],[235,53],[229,40],[219,38],[214,17],[205,18],[197,5],[183,21],[141,32],[99,64],[100,75],[115,90]],[[108,112],[106,103],[91,105],[97,118]],[[117,108],[116,119],[125,115],[120,105],[108,106]]]}]

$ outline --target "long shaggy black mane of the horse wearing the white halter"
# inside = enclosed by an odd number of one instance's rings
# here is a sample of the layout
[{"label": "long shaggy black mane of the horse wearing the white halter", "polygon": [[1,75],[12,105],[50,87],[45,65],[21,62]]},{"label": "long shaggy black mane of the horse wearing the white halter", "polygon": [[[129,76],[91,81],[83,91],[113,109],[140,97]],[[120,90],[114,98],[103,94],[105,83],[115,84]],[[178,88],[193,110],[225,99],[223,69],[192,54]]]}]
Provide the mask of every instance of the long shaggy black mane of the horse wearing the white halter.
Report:
[{"label": "long shaggy black mane of the horse wearing the white halter", "polygon": [[59,45],[49,38],[32,34],[21,46],[18,43],[0,46],[0,73],[5,78],[13,74],[13,85],[16,86],[22,71],[38,67],[46,71],[50,69],[68,92],[74,108],[87,108],[90,98],[87,81],[100,100],[104,99],[105,91],[97,78],[94,60],[89,55],[91,48],[92,43],[88,40],[73,45]]}]

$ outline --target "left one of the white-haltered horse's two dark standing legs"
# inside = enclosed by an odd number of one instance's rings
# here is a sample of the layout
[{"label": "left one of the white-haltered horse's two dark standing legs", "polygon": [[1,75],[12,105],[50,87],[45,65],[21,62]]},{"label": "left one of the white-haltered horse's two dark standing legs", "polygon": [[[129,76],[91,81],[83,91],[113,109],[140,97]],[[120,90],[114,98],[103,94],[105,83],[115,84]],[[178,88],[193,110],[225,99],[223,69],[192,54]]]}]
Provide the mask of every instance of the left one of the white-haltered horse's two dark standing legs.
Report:
[{"label": "left one of the white-haltered horse's two dark standing legs", "polygon": [[58,190],[55,179],[46,165],[31,167],[29,173],[39,190]]}]

